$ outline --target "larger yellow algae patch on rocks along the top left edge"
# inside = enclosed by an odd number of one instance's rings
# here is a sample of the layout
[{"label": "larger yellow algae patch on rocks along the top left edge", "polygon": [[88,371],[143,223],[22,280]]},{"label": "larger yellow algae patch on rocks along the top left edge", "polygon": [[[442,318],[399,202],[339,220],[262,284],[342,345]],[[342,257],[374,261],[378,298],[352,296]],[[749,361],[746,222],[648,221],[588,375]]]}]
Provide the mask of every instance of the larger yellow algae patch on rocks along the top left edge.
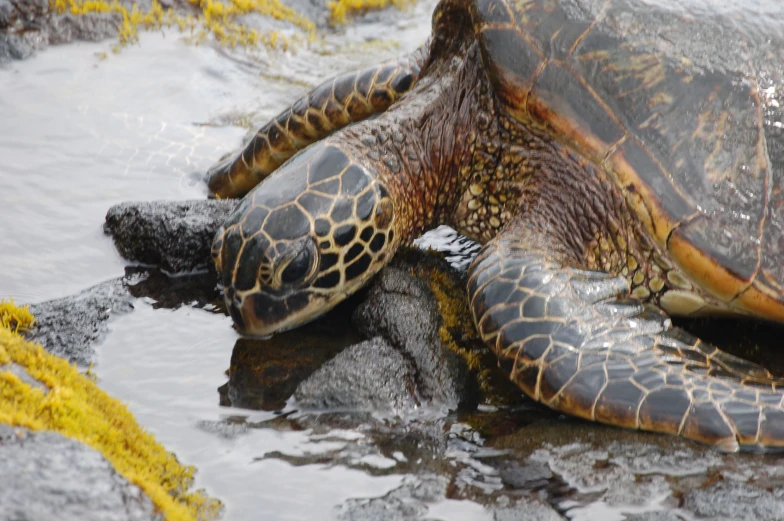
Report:
[{"label": "larger yellow algae patch on rocks along the top left edge", "polygon": [[245,14],[256,13],[276,20],[289,21],[304,31],[307,39],[315,34],[315,24],[294,9],[283,5],[280,0],[188,0],[198,9],[195,14],[180,14],[165,9],[153,0],[149,10],[142,11],[137,4],[130,6],[118,0],[50,0],[50,9],[57,14],[70,13],[85,16],[92,13],[115,13],[121,16],[118,23],[118,44],[114,51],[137,43],[139,31],[160,30],[164,27],[177,28],[187,33],[191,40],[200,42],[213,36],[222,45],[257,48],[286,49],[291,40],[278,31],[259,31],[238,21]]}]

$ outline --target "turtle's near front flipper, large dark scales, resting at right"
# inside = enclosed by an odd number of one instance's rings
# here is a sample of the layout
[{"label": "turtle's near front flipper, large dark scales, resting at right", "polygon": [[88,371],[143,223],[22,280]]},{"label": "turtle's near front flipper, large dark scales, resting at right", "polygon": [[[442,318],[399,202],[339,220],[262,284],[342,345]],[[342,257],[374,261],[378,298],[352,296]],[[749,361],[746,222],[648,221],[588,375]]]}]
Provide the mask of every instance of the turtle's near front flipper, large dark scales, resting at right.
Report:
[{"label": "turtle's near front flipper, large dark scales, resting at right", "polygon": [[570,267],[513,221],[470,268],[482,338],[555,410],[727,451],[784,447],[784,381],[671,326],[623,277]]}]

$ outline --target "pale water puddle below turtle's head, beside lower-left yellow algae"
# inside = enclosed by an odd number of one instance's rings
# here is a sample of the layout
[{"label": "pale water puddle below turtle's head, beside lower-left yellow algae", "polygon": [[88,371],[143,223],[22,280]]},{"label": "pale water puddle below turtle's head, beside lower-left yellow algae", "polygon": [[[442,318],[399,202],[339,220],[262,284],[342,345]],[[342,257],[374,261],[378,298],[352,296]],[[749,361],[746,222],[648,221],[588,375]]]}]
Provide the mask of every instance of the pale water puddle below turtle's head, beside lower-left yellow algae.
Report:
[{"label": "pale water puddle below turtle's head, beside lower-left yellow algae", "polygon": [[319,440],[307,431],[216,426],[231,426],[229,418],[237,416],[245,425],[276,417],[219,405],[236,340],[223,315],[140,302],[114,324],[97,373],[101,386],[126,401],[142,425],[199,469],[197,486],[226,503],[226,519],[322,519],[350,498],[381,496],[400,484],[399,475],[280,459],[339,451],[348,441],[337,436]]}]

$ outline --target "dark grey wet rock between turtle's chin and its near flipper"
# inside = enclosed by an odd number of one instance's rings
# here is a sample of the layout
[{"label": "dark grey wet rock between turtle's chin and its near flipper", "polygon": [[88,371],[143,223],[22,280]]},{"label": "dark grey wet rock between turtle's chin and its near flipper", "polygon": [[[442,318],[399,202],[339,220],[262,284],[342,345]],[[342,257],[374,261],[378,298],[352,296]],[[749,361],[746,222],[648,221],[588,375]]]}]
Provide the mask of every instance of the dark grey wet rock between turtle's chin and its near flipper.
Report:
[{"label": "dark grey wet rock between turtle's chin and its near flipper", "polygon": [[[432,260],[435,262],[435,260]],[[369,338],[351,346],[297,388],[304,408],[410,412],[455,410],[476,399],[465,360],[439,338],[442,319],[416,263],[397,260],[371,283],[352,322]],[[449,270],[446,262],[441,269]]]}]

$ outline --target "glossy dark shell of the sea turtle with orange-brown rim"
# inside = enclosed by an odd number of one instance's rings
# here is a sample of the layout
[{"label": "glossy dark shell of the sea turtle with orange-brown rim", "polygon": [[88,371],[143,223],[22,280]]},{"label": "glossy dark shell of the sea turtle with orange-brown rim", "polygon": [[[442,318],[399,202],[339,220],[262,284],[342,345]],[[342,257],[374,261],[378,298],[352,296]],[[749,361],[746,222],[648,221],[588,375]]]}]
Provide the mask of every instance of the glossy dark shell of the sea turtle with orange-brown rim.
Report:
[{"label": "glossy dark shell of the sea turtle with orange-brown rim", "polygon": [[471,17],[508,112],[603,166],[704,290],[784,320],[784,2],[744,4],[473,0]]}]

